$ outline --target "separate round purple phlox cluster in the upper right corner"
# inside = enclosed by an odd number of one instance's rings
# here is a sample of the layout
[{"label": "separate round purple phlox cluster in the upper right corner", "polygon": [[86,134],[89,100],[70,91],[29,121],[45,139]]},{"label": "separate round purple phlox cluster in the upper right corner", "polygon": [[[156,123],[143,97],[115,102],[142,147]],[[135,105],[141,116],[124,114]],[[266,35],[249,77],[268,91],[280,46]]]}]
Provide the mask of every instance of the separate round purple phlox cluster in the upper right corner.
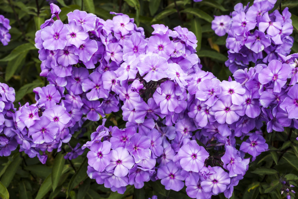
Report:
[{"label": "separate round purple phlox cluster in the upper right corner", "polygon": [[226,47],[228,60],[225,62],[231,72],[247,68],[250,62],[268,64],[277,59],[277,53],[288,55],[293,46],[291,13],[286,7],[282,13],[274,10],[274,1],[255,0],[253,5],[243,7],[238,3],[231,13],[215,16],[212,29],[218,36],[228,33]]}]

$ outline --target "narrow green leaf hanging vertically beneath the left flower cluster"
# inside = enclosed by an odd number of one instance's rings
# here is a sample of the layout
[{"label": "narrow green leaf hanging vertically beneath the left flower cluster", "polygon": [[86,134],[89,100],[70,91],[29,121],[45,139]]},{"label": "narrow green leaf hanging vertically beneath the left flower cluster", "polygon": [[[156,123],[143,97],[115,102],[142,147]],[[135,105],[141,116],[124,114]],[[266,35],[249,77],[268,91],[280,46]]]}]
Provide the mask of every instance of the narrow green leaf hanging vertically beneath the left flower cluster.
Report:
[{"label": "narrow green leaf hanging vertically beneath the left flower cluster", "polygon": [[62,153],[58,153],[55,157],[54,164],[52,167],[52,188],[53,188],[53,191],[55,191],[55,189],[58,185],[60,176],[63,171],[64,163],[65,163],[64,155]]}]

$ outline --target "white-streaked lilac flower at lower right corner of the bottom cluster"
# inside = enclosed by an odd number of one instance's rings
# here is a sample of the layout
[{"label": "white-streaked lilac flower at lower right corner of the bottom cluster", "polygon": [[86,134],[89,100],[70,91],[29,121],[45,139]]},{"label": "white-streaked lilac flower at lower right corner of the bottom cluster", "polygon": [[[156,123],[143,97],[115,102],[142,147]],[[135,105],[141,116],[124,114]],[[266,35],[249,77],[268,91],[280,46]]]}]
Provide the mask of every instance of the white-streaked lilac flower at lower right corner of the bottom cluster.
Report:
[{"label": "white-streaked lilac flower at lower right corner of the bottom cluster", "polygon": [[204,192],[212,192],[218,195],[226,190],[227,185],[231,182],[229,175],[219,166],[212,167],[216,172],[208,176],[207,180],[201,182]]}]

